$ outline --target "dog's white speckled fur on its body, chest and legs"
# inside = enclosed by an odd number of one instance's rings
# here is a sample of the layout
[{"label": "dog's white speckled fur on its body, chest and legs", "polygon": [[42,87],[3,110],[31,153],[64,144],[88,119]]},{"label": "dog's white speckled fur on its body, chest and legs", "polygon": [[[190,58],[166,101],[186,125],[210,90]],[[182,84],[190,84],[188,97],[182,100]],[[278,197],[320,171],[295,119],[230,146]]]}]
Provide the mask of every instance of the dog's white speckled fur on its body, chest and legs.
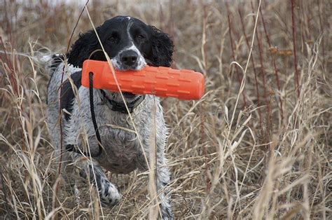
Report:
[{"label": "dog's white speckled fur on its body, chest and legs", "polygon": [[[57,123],[59,117],[59,95],[58,88],[61,82],[63,64],[54,71],[50,78],[48,86],[48,111],[47,120],[50,134],[53,139],[57,150],[60,149],[60,128]],[[79,71],[79,68],[69,66],[66,68],[66,74],[64,74],[64,80],[70,74]],[[78,102],[78,100],[80,102]],[[79,106],[78,103],[81,103]],[[86,160],[85,165],[81,165],[81,176],[86,177],[90,174],[90,180],[93,184],[97,184],[99,195],[104,205],[116,205],[120,200],[120,193],[116,189],[116,186],[111,184],[106,179],[102,167],[116,174],[127,174],[135,169],[146,170],[146,160],[139,144],[139,139],[134,132],[128,130],[134,130],[130,118],[127,114],[122,114],[117,111],[111,111],[106,104],[102,104],[102,100],[99,98],[97,90],[94,90],[94,105],[95,116],[97,125],[99,128],[104,151],[102,155],[97,158],[93,158],[95,161],[95,177],[97,183],[94,181],[91,165]],[[157,146],[157,184],[158,191],[164,191],[164,187],[170,181],[170,173],[166,166],[165,158],[165,144],[167,140],[167,127],[163,118],[162,106],[160,105],[159,98],[152,95],[146,95],[144,101],[134,109],[132,118],[136,125],[137,131],[141,137],[143,149],[146,153],[146,157],[149,158],[149,137],[153,131],[153,118],[151,117],[155,109],[155,126],[156,126],[156,146]],[[74,100],[74,109],[68,122],[62,119],[64,128],[64,146],[66,144],[74,144],[78,146],[82,151],[86,151],[83,134],[87,134],[88,144],[91,152],[98,151],[97,139],[95,137],[95,130],[92,125],[92,119],[90,115],[90,102],[89,102],[89,90],[81,86],[78,89],[78,99]],[[117,127],[125,128],[114,128]],[[72,158],[79,160],[81,157],[78,153],[64,152],[65,158]],[[90,171],[89,171],[90,170]],[[169,216],[172,219],[172,211],[170,207],[170,201],[167,198],[166,192],[160,195],[161,211],[163,218]]]}]

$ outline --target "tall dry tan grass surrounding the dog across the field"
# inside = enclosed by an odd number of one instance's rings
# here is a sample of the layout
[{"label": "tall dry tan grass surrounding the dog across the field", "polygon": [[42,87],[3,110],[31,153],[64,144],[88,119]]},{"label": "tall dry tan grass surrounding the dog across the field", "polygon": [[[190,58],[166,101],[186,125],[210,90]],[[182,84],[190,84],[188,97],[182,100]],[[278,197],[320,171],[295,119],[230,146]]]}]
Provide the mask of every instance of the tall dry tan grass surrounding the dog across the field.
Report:
[{"label": "tall dry tan grass surrounding the dog across the field", "polygon": [[[151,173],[109,173],[124,195],[113,209],[100,209],[83,183],[78,199],[58,175],[44,117],[48,74],[32,57],[66,51],[83,4],[0,5],[0,216],[155,216],[146,197]],[[261,10],[258,1],[172,0],[88,8],[96,25],[123,14],[170,33],[173,67],[206,76],[200,101],[162,101],[177,218],[331,218],[331,1],[262,1]],[[91,28],[83,13],[73,40]]]}]

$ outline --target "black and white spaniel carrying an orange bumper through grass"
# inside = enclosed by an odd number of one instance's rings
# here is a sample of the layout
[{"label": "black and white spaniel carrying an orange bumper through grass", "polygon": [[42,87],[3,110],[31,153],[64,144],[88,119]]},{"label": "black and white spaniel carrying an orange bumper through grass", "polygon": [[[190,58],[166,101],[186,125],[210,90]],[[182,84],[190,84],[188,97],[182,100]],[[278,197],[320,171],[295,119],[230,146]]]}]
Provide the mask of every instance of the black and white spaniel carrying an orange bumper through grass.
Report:
[{"label": "black and white spaniel carrying an orange bumper through grass", "polygon": [[[106,20],[96,31],[116,69],[138,71],[146,64],[154,67],[170,67],[172,64],[174,44],[170,36],[137,18],[117,16]],[[113,206],[120,201],[121,194],[106,178],[102,168],[114,174],[128,174],[136,169],[147,170],[146,159],[149,161],[151,158],[149,139],[151,133],[156,130],[155,174],[160,212],[162,219],[173,219],[170,196],[166,188],[170,182],[170,172],[165,158],[167,126],[158,97],[123,92],[125,102],[132,111],[139,138],[136,132],[132,132],[134,128],[120,93],[93,89],[95,120],[102,145],[102,152],[97,153],[99,142],[90,114],[89,88],[81,86],[83,61],[106,60],[97,34],[93,29],[80,34],[66,56],[53,56],[46,111],[53,145],[57,152],[62,152],[62,161],[83,161],[79,163],[79,174],[97,187],[102,205]],[[62,136],[59,123],[60,109]],[[97,154],[92,157],[92,163],[79,153],[88,151],[87,144],[91,155]]]}]

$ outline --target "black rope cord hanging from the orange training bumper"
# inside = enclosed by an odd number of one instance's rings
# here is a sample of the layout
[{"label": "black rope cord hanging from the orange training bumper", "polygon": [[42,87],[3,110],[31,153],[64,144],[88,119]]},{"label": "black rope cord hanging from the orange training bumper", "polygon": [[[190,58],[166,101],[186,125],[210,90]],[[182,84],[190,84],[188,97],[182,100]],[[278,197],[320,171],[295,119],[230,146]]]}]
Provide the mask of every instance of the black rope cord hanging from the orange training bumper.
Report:
[{"label": "black rope cord hanging from the orange training bumper", "polygon": [[102,154],[102,140],[100,139],[100,135],[99,135],[99,130],[98,130],[98,125],[97,125],[97,121],[96,121],[96,116],[95,116],[95,108],[93,106],[93,73],[90,71],[89,73],[89,95],[90,95],[90,111],[91,111],[91,118],[92,118],[92,123],[93,123],[93,127],[95,128],[95,132],[96,132],[96,137],[98,140],[98,152],[95,154],[91,154],[89,152],[81,152],[78,149],[76,149],[74,147],[73,144],[68,144],[66,149],[67,151],[73,151],[75,153],[81,153],[84,156],[91,156],[92,158],[95,158],[97,156],[100,156],[100,154]]}]

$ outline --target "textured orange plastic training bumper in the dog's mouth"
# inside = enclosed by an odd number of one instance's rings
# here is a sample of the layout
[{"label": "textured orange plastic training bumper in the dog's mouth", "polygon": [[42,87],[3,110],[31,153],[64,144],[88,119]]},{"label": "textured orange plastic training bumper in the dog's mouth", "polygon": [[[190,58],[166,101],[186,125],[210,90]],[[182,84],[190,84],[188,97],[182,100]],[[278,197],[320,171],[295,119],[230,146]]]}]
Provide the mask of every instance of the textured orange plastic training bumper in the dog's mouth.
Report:
[{"label": "textured orange plastic training bumper in the dog's mouth", "polygon": [[[204,94],[204,76],[188,69],[169,67],[144,67],[139,71],[114,69],[122,92],[137,95],[156,95],[178,99],[200,99]],[[89,73],[93,73],[93,88],[118,92],[108,62],[85,60],[82,69],[82,85],[89,87]]]}]

